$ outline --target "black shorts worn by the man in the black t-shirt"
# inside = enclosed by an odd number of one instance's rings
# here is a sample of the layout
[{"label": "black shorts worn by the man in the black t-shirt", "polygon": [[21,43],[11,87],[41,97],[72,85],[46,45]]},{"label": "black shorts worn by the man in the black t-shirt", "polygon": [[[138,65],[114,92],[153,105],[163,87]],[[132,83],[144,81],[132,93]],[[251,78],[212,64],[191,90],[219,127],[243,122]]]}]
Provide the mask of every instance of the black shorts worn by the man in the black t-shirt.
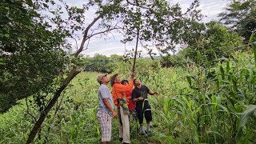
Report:
[{"label": "black shorts worn by the man in the black t-shirt", "polygon": [[[145,101],[147,102],[147,101]],[[149,103],[145,103],[146,105],[144,105],[144,109],[142,110],[142,108],[137,108],[136,107],[136,111],[137,111],[137,115],[138,115],[138,122],[139,124],[143,123],[143,115],[145,115],[146,118],[146,122],[150,122],[152,121],[152,113],[151,113],[151,107]]]}]

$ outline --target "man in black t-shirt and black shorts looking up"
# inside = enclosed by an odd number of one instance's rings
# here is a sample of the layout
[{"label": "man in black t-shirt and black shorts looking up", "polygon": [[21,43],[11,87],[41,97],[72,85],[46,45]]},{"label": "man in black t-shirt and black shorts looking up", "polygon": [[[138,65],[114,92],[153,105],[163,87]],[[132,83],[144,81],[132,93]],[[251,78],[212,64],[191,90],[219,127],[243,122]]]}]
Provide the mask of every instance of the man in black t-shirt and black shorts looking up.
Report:
[{"label": "man in black t-shirt and black shorts looking up", "polygon": [[[151,91],[147,86],[142,85],[141,82],[134,79],[134,90],[132,92],[132,98],[136,102],[136,111],[138,114],[138,122],[141,126],[142,134],[146,136],[146,132],[150,131],[150,121],[152,121],[151,107],[147,100],[147,94],[154,95],[158,94],[156,91]],[[146,118],[146,132],[143,128],[143,114]]]}]

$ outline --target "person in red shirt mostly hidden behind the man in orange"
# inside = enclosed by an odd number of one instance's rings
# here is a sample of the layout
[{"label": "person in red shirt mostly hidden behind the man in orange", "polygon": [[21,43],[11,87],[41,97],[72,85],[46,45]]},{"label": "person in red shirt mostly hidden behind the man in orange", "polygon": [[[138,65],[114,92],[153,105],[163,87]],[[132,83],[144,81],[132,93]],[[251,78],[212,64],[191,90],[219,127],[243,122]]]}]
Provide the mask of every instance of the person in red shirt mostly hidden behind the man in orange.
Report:
[{"label": "person in red shirt mostly hidden behind the man in orange", "polygon": [[[121,83],[122,83],[122,85],[125,85],[125,86],[129,84],[128,80],[126,80],[126,79],[122,80]],[[130,114],[132,114],[132,116],[134,118],[137,118],[137,112],[135,110],[135,102],[134,102],[134,99],[131,97],[132,92],[133,92],[133,89],[131,89],[130,91],[127,91],[126,98],[128,101],[128,108],[129,108]]]}]

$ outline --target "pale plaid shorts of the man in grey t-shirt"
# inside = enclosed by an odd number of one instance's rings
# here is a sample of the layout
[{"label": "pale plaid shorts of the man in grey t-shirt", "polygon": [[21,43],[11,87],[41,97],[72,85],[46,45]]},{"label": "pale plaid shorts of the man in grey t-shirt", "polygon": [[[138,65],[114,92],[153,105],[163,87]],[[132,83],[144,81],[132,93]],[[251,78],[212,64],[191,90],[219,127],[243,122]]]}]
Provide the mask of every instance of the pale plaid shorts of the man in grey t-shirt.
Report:
[{"label": "pale plaid shorts of the man in grey t-shirt", "polygon": [[102,142],[110,142],[111,140],[111,127],[112,117],[104,111],[98,111],[98,122],[101,126]]}]

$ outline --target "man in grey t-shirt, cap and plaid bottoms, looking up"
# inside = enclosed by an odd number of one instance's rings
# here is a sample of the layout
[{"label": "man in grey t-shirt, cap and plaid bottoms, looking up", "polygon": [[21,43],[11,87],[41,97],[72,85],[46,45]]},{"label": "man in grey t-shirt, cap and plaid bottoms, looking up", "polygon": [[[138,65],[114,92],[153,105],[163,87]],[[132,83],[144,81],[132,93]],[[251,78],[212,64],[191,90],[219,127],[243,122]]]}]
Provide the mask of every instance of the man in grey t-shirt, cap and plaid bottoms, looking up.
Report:
[{"label": "man in grey t-shirt, cap and plaid bottoms, looking up", "polygon": [[111,140],[112,118],[117,114],[114,112],[114,102],[110,90],[107,87],[109,79],[106,74],[99,75],[97,78],[100,84],[98,89],[98,122],[101,126],[102,144],[107,144]]}]

